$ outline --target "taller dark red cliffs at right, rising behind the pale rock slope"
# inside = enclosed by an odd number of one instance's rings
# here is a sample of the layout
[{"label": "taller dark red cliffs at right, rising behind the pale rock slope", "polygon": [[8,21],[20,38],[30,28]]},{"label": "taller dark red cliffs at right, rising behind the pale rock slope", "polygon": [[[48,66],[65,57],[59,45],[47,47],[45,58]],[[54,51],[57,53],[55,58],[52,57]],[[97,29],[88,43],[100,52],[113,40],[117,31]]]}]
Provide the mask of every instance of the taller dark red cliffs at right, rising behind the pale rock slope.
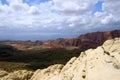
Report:
[{"label": "taller dark red cliffs at right, rising behind the pale rock slope", "polygon": [[49,44],[51,44],[51,46],[77,46],[83,49],[88,49],[96,48],[97,46],[103,44],[104,41],[115,37],[120,37],[120,30],[87,33],[71,39],[59,38],[50,41]]}]

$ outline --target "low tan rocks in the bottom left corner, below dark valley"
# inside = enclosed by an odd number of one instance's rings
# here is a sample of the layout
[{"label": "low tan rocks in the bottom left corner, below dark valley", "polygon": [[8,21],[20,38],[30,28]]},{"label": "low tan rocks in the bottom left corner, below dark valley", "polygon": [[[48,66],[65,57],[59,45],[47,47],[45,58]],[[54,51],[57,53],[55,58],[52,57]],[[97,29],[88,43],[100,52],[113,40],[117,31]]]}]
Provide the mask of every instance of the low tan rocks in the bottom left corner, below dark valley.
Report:
[{"label": "low tan rocks in the bottom left corner, below dark valley", "polygon": [[32,71],[18,70],[11,73],[0,70],[0,80],[30,80]]}]

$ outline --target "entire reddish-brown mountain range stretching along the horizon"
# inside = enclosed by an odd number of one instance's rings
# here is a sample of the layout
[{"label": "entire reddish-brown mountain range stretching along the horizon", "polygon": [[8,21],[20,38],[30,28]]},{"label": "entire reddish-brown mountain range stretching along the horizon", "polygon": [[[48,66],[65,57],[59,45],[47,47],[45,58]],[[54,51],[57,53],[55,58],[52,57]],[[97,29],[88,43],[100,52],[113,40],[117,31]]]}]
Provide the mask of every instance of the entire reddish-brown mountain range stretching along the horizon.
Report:
[{"label": "entire reddish-brown mountain range stretching along the horizon", "polygon": [[105,31],[105,32],[92,32],[82,34],[75,38],[58,38],[56,40],[48,41],[2,41],[11,45],[17,49],[26,50],[26,49],[35,49],[36,47],[42,48],[66,48],[66,47],[75,47],[81,49],[96,48],[103,44],[104,41],[112,38],[120,37],[120,30]]}]

